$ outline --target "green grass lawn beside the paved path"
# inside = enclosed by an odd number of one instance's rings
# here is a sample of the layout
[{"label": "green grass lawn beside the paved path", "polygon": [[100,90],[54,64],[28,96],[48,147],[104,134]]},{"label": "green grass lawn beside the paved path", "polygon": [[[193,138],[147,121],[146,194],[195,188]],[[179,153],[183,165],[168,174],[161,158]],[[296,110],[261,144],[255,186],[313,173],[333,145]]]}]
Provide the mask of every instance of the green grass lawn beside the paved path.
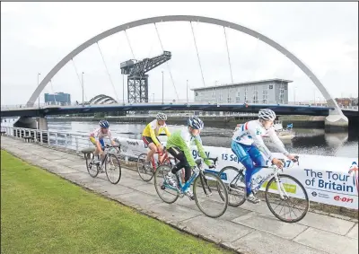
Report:
[{"label": "green grass lawn beside the paved path", "polygon": [[230,253],[1,151],[1,253]]}]

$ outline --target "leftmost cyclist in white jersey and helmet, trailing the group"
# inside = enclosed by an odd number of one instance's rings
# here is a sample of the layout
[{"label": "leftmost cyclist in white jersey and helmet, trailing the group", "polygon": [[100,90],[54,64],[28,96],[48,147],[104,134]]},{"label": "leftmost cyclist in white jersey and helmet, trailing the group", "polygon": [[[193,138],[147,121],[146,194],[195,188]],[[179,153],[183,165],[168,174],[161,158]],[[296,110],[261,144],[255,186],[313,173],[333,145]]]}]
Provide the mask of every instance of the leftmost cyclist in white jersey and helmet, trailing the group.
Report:
[{"label": "leftmost cyclist in white jersey and helmet, trailing the group", "polygon": [[100,153],[101,160],[103,159],[103,150],[105,143],[103,142],[103,137],[109,137],[109,141],[112,145],[117,145],[115,141],[112,140],[111,131],[109,130],[109,122],[107,120],[100,121],[100,127],[92,131],[90,134],[90,141],[93,145],[96,146],[95,156],[93,159],[93,163],[100,163],[97,154]]}]

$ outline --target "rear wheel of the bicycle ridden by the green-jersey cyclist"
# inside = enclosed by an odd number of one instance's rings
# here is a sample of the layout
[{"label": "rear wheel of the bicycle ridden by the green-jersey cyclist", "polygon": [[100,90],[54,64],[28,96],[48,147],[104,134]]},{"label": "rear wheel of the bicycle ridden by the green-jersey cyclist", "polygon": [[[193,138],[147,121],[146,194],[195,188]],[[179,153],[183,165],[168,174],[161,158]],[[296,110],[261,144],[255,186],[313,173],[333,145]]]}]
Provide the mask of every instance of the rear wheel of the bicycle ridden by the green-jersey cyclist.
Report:
[{"label": "rear wheel of the bicycle ridden by the green-jersey cyclist", "polygon": [[164,176],[171,171],[168,165],[160,165],[154,172],[154,188],[158,196],[167,204],[172,204],[180,197],[179,191],[166,184]]}]

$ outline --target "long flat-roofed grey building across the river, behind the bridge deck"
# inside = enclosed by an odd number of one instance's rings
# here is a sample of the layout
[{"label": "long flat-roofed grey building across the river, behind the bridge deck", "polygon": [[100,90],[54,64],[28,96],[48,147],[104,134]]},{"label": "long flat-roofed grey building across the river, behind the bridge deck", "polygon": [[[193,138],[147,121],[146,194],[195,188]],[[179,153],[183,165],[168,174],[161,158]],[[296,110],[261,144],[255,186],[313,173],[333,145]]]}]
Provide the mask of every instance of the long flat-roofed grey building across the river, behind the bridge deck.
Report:
[{"label": "long flat-roofed grey building across the river, behind the bridge deck", "polygon": [[287,104],[291,80],[267,79],[194,88],[195,102]]}]

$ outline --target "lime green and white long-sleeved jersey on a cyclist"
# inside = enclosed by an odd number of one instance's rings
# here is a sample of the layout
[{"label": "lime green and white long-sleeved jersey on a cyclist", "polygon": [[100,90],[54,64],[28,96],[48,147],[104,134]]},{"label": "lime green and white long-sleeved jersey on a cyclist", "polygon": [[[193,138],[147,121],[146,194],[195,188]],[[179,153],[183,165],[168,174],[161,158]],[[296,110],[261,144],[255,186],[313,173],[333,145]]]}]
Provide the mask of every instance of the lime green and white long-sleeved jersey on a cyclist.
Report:
[{"label": "lime green and white long-sleeved jersey on a cyclist", "polygon": [[167,140],[166,147],[167,149],[170,149],[171,147],[177,147],[180,149],[180,151],[183,151],[183,153],[186,156],[186,159],[188,161],[189,166],[194,167],[196,166],[196,162],[193,159],[192,156],[192,149],[191,145],[196,145],[197,150],[199,153],[199,156],[205,160],[205,163],[209,166],[211,165],[211,162],[207,160],[206,153],[202,146],[202,140],[200,136],[192,136],[188,129],[182,129],[175,131]]}]

